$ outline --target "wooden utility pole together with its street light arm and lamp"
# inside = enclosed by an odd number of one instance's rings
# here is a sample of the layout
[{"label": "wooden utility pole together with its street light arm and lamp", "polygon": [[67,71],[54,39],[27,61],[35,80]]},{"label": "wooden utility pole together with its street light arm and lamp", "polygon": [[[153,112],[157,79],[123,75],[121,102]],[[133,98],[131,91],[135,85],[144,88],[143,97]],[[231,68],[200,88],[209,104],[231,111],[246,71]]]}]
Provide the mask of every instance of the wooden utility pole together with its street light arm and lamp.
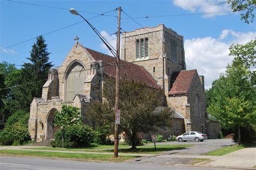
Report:
[{"label": "wooden utility pole together with its street light arm and lamp", "polygon": [[118,118],[119,121],[115,121],[114,124],[114,158],[118,157],[118,128],[120,124],[120,110],[119,110],[119,57],[120,57],[120,18],[121,18],[121,7],[118,7],[118,19],[117,19],[117,50],[114,49],[109,42],[99,33],[99,31],[91,25],[82,15],[80,15],[75,9],[71,8],[70,13],[73,15],[77,15],[82,17],[85,22],[92,28],[92,30],[97,34],[97,36],[104,42],[104,44],[109,48],[109,51],[114,55],[117,59],[116,65],[116,119]]}]

